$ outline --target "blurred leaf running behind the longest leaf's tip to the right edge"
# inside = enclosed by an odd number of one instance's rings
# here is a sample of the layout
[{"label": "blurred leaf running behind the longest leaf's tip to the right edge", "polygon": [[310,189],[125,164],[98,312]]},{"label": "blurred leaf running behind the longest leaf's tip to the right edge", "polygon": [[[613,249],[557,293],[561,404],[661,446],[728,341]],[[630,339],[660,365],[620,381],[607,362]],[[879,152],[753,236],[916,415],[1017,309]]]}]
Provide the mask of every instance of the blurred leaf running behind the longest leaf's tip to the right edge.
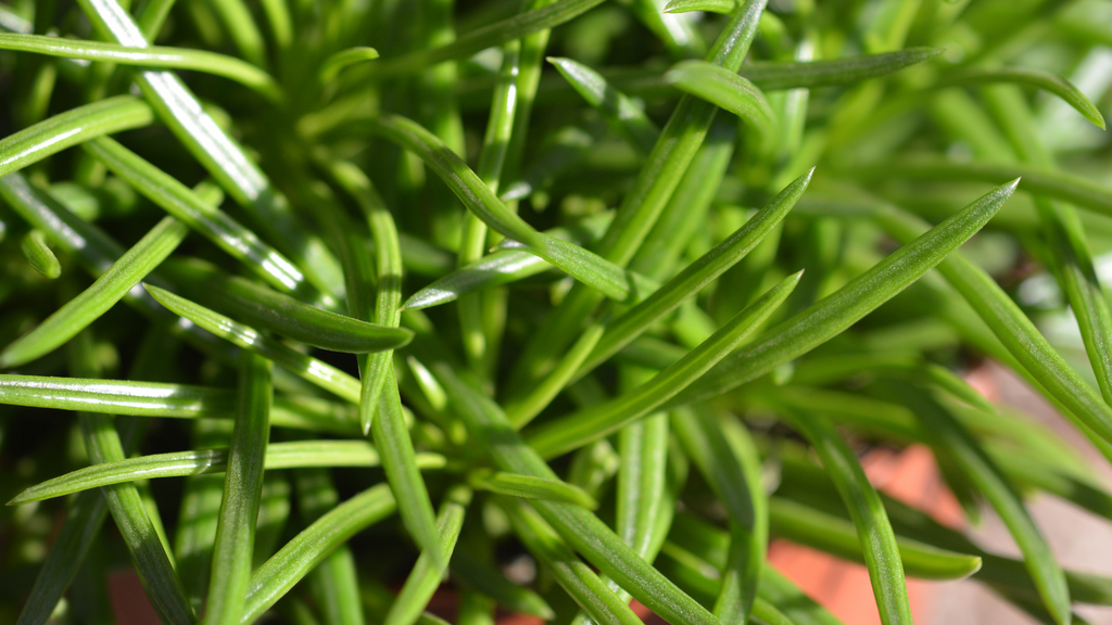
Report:
[{"label": "blurred leaf running behind the longest leaf's tip to the right edge", "polygon": [[[916,236],[925,226],[917,217],[894,208],[877,219],[902,240]],[[1068,408],[1066,416],[1080,419],[1083,433],[1112,442],[1112,408],[1065,364],[991,276],[960,252],[943,260],[939,271],[984,319],[1007,351]]]}]

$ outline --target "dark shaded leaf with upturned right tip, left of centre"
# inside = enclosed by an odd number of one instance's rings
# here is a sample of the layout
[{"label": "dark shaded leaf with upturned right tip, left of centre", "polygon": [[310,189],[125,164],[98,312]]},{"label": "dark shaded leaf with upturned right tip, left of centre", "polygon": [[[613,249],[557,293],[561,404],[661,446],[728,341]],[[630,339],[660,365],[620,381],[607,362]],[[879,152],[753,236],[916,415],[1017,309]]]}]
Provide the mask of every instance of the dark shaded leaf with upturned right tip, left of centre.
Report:
[{"label": "dark shaded leaf with upturned right tip, left of centre", "polygon": [[401,347],[413,337],[405,328],[387,328],[321,310],[201,261],[169,262],[165,271],[198,304],[314,347],[367,354]]}]

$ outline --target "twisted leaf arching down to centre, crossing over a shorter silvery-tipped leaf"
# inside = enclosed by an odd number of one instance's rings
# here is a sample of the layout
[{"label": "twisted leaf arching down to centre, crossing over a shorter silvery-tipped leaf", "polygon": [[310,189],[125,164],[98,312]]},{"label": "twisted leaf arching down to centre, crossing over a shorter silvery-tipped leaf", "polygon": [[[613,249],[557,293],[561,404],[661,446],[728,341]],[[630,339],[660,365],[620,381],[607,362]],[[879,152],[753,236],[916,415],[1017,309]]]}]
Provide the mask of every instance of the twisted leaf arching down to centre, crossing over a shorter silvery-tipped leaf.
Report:
[{"label": "twisted leaf arching down to centre, crossing over a shorter silvery-tipped leaf", "polygon": [[380,115],[371,128],[413,151],[436,171],[464,206],[492,230],[522,242],[525,249],[598,289],[607,297],[624,300],[631,295],[625,271],[586,249],[538,232],[512,212],[490,188],[455,152],[428,130],[404,117]]}]

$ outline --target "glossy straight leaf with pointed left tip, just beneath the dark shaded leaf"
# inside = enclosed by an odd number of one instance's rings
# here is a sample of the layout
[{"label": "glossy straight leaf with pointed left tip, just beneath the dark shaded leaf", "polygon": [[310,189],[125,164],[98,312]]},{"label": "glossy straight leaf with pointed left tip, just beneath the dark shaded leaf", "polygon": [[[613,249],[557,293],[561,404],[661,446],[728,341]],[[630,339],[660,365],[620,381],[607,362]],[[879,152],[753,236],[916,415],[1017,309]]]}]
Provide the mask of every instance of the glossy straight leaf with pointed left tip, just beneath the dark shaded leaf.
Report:
[{"label": "glossy straight leaf with pointed left tip, just beneath the dark shaded leaf", "polygon": [[310,384],[335,393],[353,404],[359,403],[359,381],[336,367],[311,356],[306,356],[285,343],[260,334],[255,328],[232,321],[224,315],[214,312],[168,290],[151,285],[143,285],[143,288],[175,315],[181,315],[237,347],[255,351],[272,360],[279,367],[292,371]]}]

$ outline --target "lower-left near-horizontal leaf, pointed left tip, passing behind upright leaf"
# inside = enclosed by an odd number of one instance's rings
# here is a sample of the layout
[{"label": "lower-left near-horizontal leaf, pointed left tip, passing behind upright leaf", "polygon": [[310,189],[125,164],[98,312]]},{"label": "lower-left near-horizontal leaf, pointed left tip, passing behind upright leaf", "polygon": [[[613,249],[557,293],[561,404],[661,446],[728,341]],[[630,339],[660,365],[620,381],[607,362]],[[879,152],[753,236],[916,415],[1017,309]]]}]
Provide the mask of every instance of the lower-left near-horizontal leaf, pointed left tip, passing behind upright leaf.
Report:
[{"label": "lower-left near-horizontal leaf, pointed left tip, passing behind upright leaf", "polygon": [[[417,455],[417,466],[421,468],[439,468],[444,463],[444,457],[437,454]],[[29,504],[137,479],[218,474],[224,473],[227,464],[228,450],[224,448],[138,456],[118,463],[93,465],[48,479],[23,490],[8,504]],[[265,466],[272,470],[300,467],[377,467],[381,463],[378,452],[363,440],[298,440],[268,445]]]}]

